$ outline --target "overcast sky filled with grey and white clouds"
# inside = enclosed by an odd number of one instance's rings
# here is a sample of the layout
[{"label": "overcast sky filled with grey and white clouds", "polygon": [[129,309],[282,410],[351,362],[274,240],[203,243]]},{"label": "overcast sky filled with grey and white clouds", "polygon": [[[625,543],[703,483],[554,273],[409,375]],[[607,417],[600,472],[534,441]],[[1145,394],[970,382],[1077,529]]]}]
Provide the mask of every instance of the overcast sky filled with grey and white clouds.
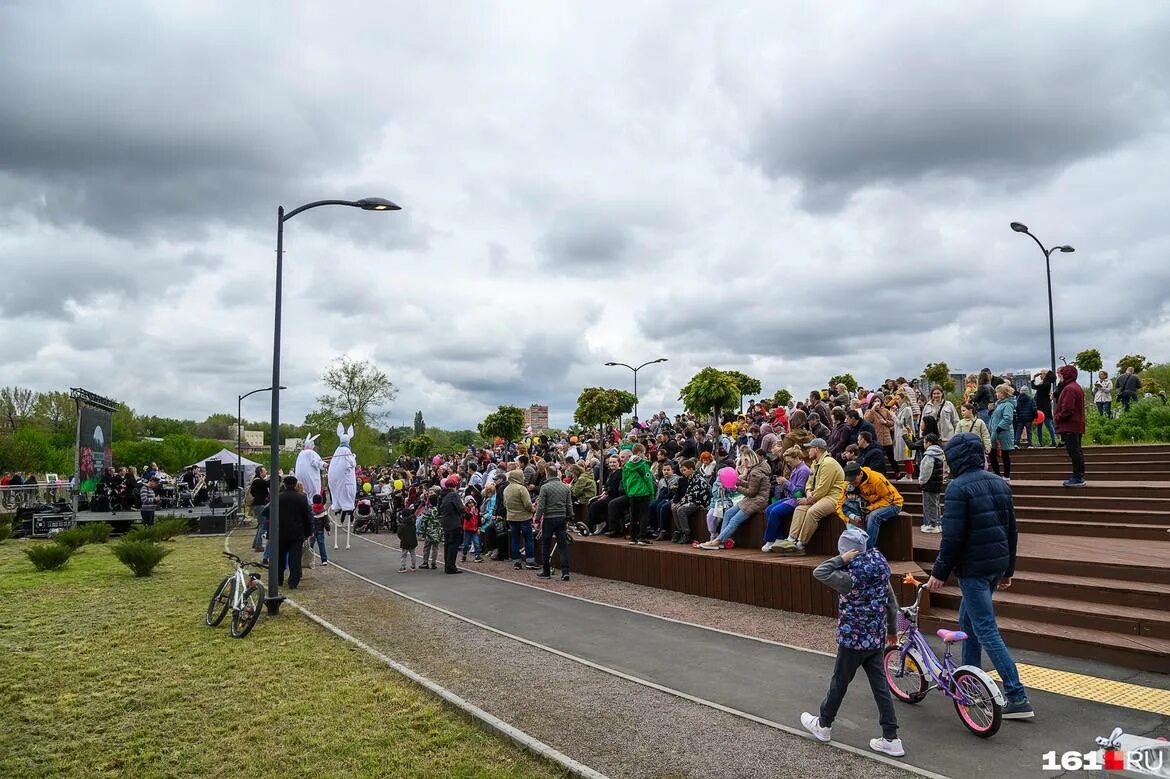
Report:
[{"label": "overcast sky filled with grey and white clouds", "polygon": [[[1170,4],[0,4],[0,384],[202,419],[340,353],[395,423],[706,365],[1170,359]],[[263,418],[264,402],[246,412]]]}]

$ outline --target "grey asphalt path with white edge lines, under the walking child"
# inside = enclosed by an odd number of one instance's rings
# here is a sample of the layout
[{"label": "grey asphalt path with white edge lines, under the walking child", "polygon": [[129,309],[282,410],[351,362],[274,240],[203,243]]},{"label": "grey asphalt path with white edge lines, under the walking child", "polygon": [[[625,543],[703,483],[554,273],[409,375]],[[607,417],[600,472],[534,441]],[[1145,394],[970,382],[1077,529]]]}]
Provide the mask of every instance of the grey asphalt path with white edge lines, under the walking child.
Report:
[{"label": "grey asphalt path with white edge lines, under the walking child", "polygon": [[[391,540],[392,539],[388,539]],[[393,543],[393,542],[392,542]],[[833,659],[775,643],[689,626],[603,604],[564,598],[490,577],[442,571],[398,573],[397,550],[353,538],[329,550],[331,561],[378,584],[544,648],[736,712],[800,729],[800,712],[817,712]],[[440,556],[441,557],[441,556]],[[387,593],[387,597],[392,597]],[[583,691],[585,694],[586,691]],[[1032,690],[1035,719],[1005,721],[990,739],[971,735],[951,702],[932,691],[917,705],[895,702],[907,765],[947,777],[1039,777],[1041,756],[1090,751],[1115,726],[1170,736],[1170,717]],[[878,712],[859,673],[833,724],[833,740],[869,749],[881,735]],[[717,749],[735,749],[720,744]],[[1059,757],[1058,757],[1059,759]],[[669,766],[663,766],[669,768]]]}]

